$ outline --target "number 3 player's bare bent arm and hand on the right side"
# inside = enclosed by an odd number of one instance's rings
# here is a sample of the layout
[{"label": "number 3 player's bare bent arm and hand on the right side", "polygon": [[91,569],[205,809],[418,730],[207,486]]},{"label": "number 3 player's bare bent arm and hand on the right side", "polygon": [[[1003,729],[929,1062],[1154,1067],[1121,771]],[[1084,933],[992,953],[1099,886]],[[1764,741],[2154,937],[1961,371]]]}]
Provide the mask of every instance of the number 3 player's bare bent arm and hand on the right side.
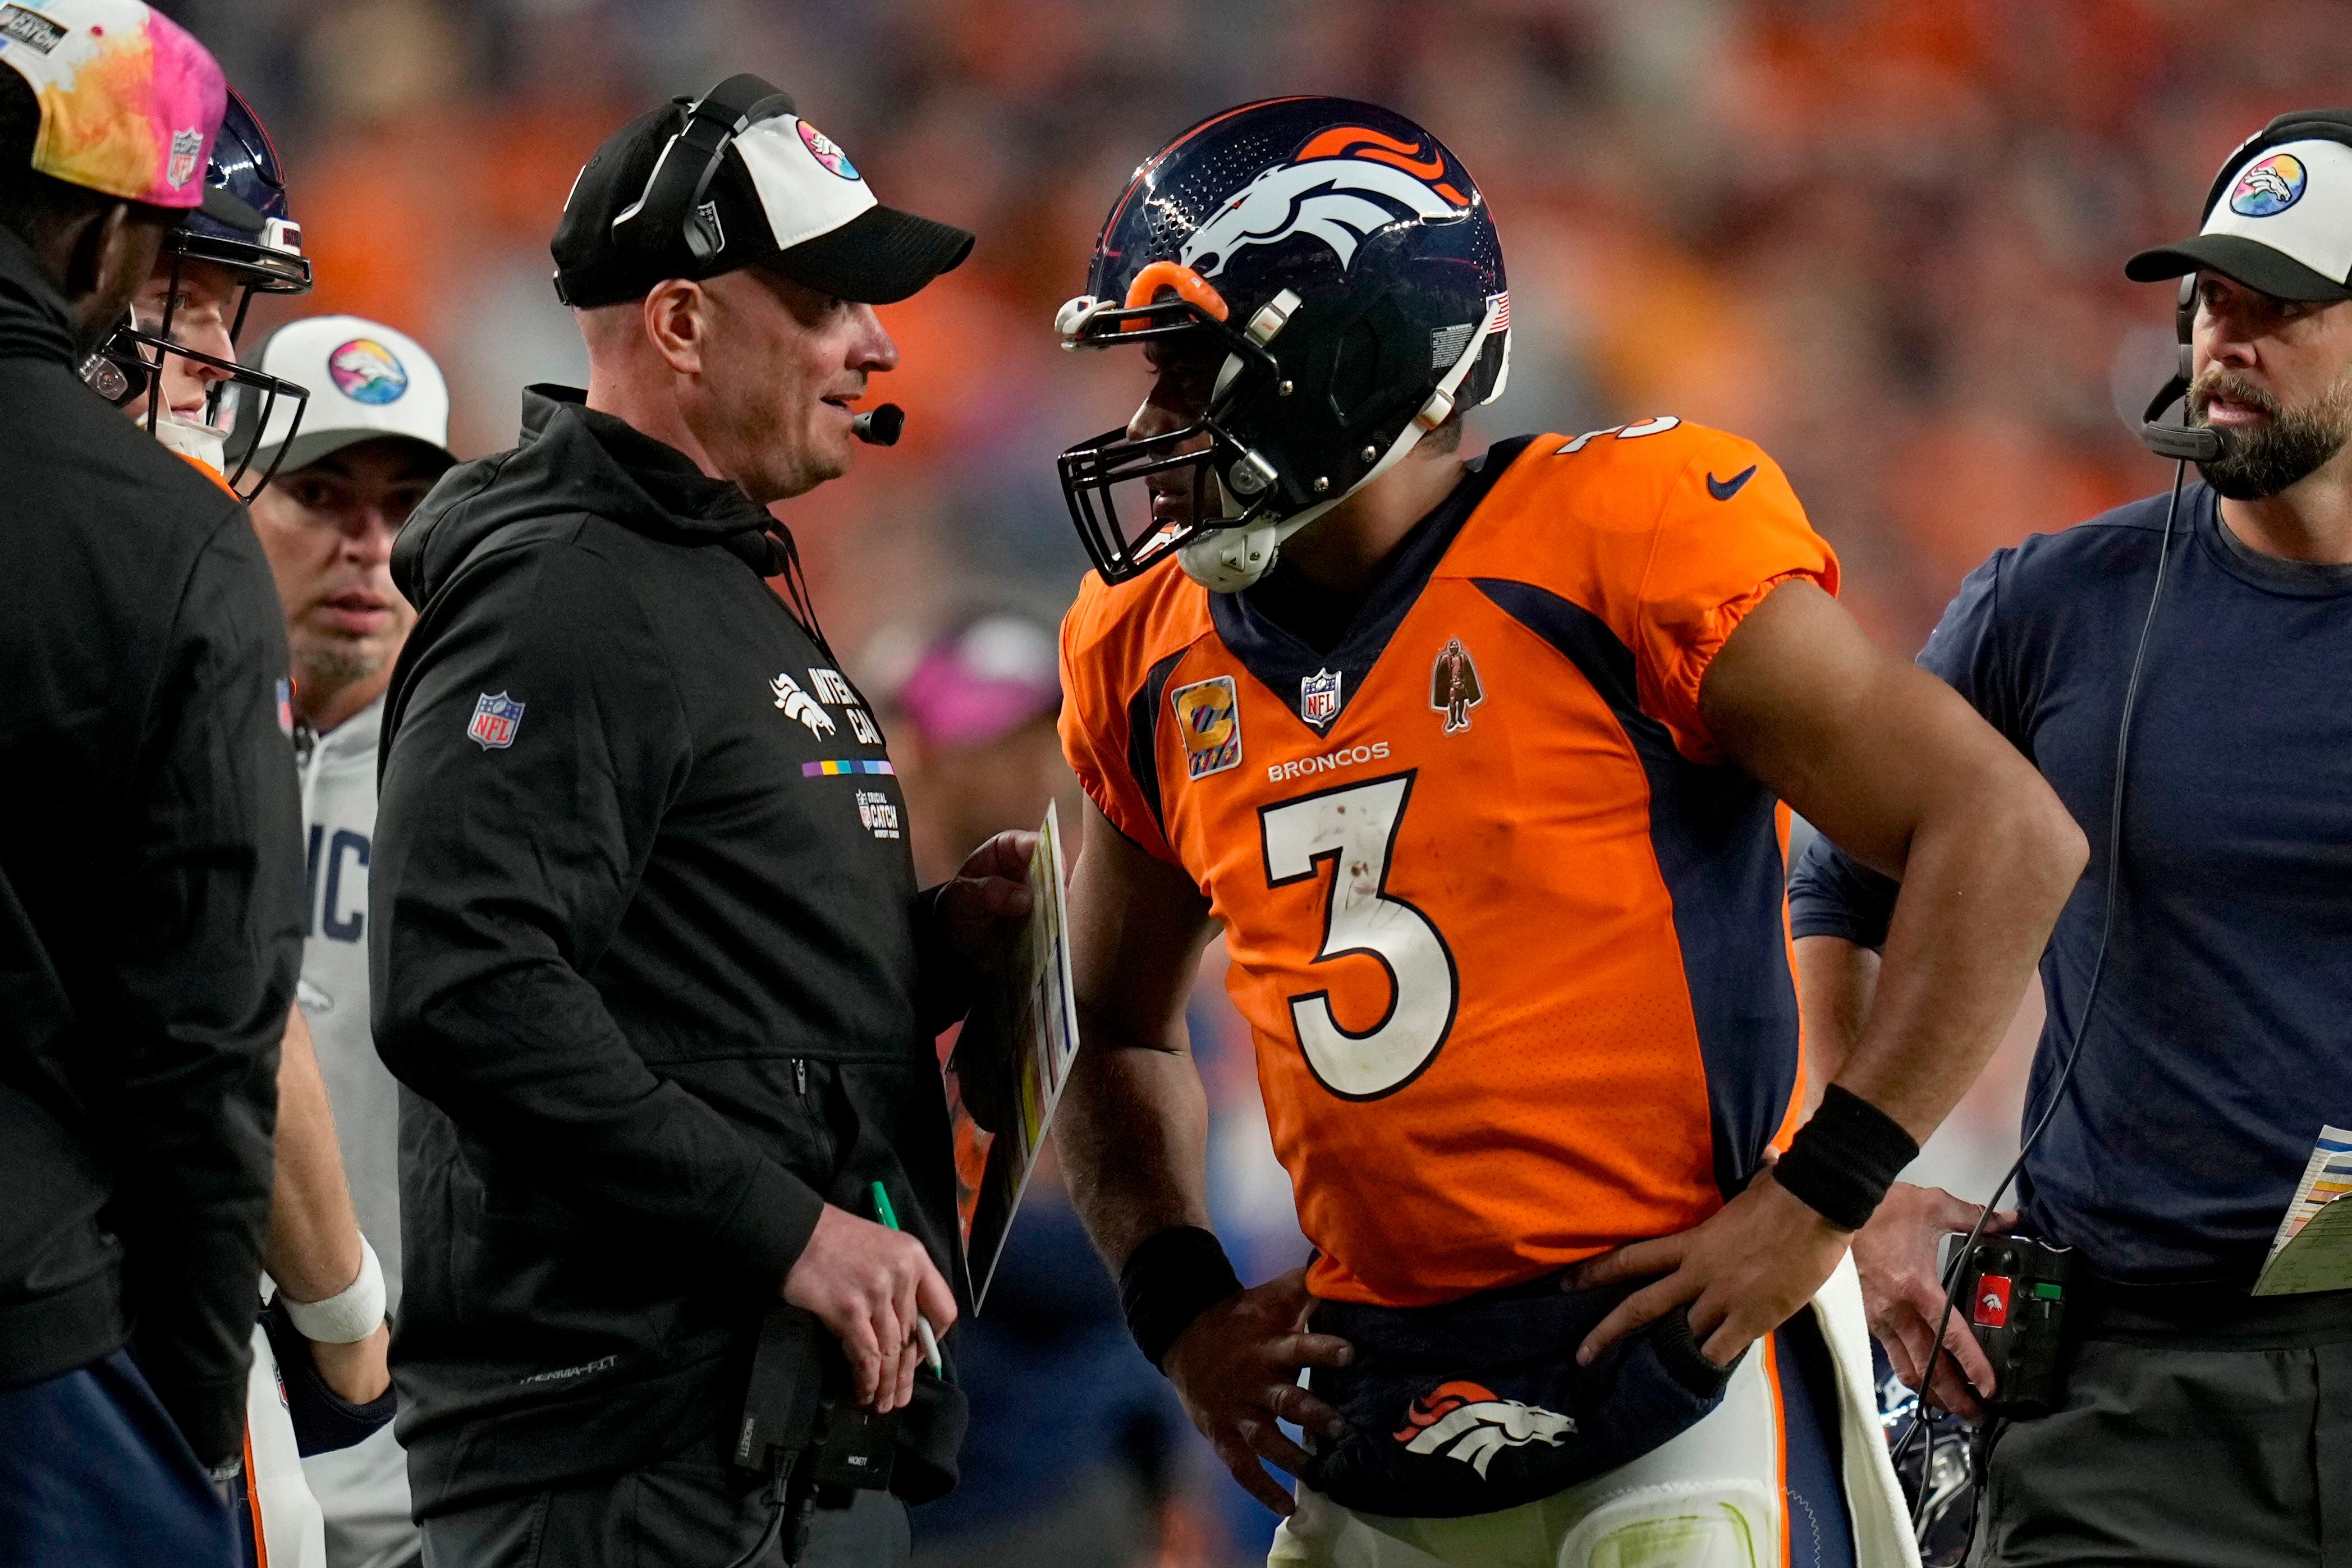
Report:
[{"label": "number 3 player's bare bent arm and hand on the right side", "polygon": [[[1788,581],[1708,665],[1724,755],[1837,844],[1898,877],[1875,1006],[1835,1086],[1924,1143],[1983,1072],[2089,846],[2049,785],[1933,675],[1879,651],[1820,588]],[[1689,1305],[1717,1363],[1837,1267],[1853,1232],[1759,1173],[1679,1237],[1621,1248],[1590,1281],[1668,1269],[1585,1342]]]}]

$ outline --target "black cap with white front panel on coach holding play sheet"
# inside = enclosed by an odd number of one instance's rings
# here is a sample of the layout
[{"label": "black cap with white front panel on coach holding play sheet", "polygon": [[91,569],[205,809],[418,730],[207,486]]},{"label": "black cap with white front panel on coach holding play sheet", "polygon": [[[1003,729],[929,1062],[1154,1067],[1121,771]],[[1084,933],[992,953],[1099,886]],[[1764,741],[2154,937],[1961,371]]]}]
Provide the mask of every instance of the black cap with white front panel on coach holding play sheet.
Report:
[{"label": "black cap with white front panel on coach holding play sheet", "polygon": [[764,266],[837,299],[889,306],[971,254],[962,228],[882,207],[849,153],[790,110],[753,120],[727,143],[699,202],[703,233],[715,240],[708,259],[696,259],[682,223],[649,247],[619,240],[614,221],[644,197],[687,113],[680,99],[637,115],[572,183],[548,244],[564,303],[612,306],[642,299],[666,277]]}]

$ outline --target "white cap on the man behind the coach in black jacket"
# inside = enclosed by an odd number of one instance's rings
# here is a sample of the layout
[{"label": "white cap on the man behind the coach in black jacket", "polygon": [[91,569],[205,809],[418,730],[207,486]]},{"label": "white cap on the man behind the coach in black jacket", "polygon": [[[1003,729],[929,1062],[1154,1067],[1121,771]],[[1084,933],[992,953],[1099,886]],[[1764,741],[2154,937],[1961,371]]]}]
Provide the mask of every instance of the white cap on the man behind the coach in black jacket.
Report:
[{"label": "white cap on the man behind the coach in black jacket", "polygon": [[[278,449],[278,473],[308,468],[332,451],[405,435],[433,447],[452,463],[449,383],[423,343],[360,315],[313,315],[287,322],[261,346],[261,374],[310,390],[301,428],[294,404],[280,397],[261,430],[254,468],[266,470]],[[294,440],[287,440],[294,430]]]}]

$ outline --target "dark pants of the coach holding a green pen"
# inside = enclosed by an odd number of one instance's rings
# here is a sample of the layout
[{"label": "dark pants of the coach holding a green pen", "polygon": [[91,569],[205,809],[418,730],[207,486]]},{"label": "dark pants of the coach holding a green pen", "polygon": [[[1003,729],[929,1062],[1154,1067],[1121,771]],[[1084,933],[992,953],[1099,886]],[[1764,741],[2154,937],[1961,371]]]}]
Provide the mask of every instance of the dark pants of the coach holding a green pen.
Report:
[{"label": "dark pants of the coach holding a green pen", "polygon": [[[699,1446],[623,1476],[557,1486],[423,1521],[426,1568],[727,1568],[767,1530],[764,1490]],[[816,1509],[800,1568],[896,1568],[906,1505],[858,1493]],[[781,1568],[771,1547],[757,1568]]]}]

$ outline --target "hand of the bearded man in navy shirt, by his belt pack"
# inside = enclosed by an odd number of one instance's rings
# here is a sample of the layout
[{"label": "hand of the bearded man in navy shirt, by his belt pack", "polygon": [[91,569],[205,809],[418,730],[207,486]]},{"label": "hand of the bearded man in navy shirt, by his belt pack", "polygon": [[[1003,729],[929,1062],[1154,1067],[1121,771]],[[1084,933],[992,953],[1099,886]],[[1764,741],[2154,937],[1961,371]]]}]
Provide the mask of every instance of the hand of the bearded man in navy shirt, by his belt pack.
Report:
[{"label": "hand of the bearded man in navy shirt, by his belt pack", "polygon": [[[1943,1187],[1896,1182],[1870,1215],[1870,1225],[1853,1237],[1863,1309],[1870,1316],[1870,1333],[1886,1347],[1896,1378],[1919,1389],[1919,1373],[1936,1349],[1936,1324],[1943,1321],[1945,1354],[1936,1361],[1936,1387],[1926,1389],[1926,1401],[1966,1420],[1985,1418],[1976,1399],[1992,1394],[1992,1363],[1969,1328],[1966,1300],[1957,1302],[1945,1321],[1945,1284],[1936,1274],[1936,1253],[1945,1232],[1969,1232],[1980,1213],[1985,1211]],[[2016,1211],[1994,1213],[1985,1220],[1985,1234],[1999,1237],[2016,1222]]]}]

